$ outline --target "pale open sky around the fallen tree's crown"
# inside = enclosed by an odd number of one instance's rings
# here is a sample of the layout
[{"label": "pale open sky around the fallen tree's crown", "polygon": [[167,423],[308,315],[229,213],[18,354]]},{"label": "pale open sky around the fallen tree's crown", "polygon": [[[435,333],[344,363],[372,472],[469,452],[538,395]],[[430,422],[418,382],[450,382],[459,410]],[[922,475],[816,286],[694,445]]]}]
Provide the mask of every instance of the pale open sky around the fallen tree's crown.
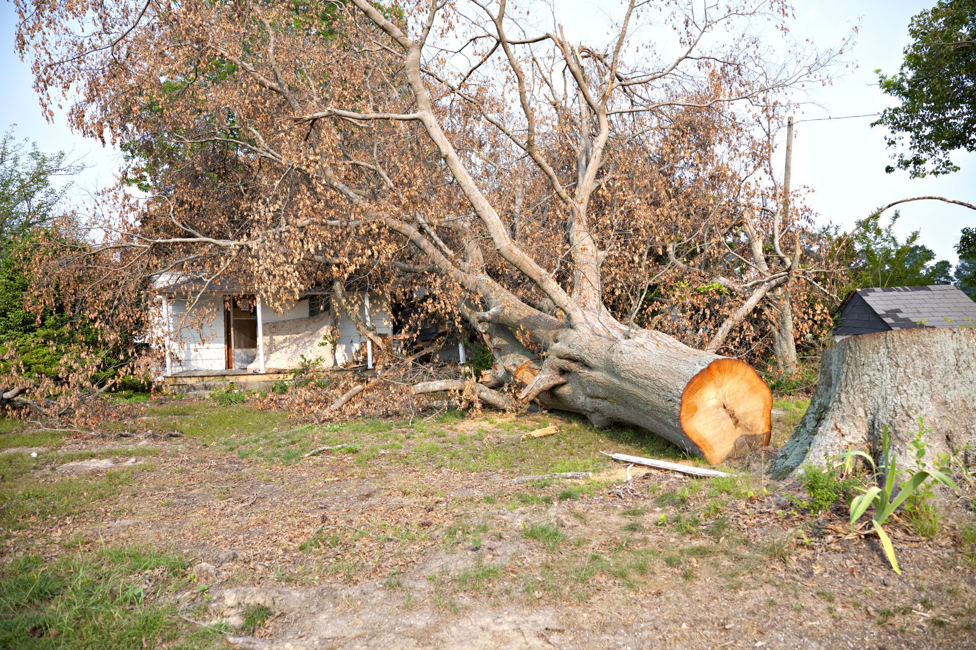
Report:
[{"label": "pale open sky around the fallen tree's crown", "polygon": [[[606,29],[608,3],[591,0],[554,0],[556,14],[571,38],[599,40]],[[819,106],[796,115],[793,140],[793,186],[813,190],[809,203],[822,223],[849,226],[875,208],[921,195],[938,195],[976,203],[976,155],[956,153],[961,171],[948,176],[909,178],[908,172],[884,172],[890,152],[884,132],[870,128],[872,117],[839,121],[801,120],[876,113],[893,101],[876,86],[875,68],[895,72],[908,44],[909,20],[935,0],[818,0],[796,4],[793,37],[811,38],[818,46],[835,46],[860,20],[861,30],[847,57],[854,65],[826,88],[808,96]],[[610,9],[609,11],[613,11]],[[14,53],[16,15],[9,2],[0,4],[0,88],[6,100],[0,104],[0,128],[17,124],[16,134],[37,142],[44,151],[68,150],[84,158],[90,169],[78,178],[78,194],[92,192],[113,180],[119,156],[101,143],[85,139],[64,124],[63,115],[48,124],[40,114],[31,88],[30,70]],[[782,152],[781,152],[782,155]],[[782,164],[780,165],[782,169]],[[976,211],[941,202],[915,202],[901,207],[896,232],[901,236],[918,229],[920,242],[935,250],[940,259],[956,262],[953,249],[963,226],[976,227]]]}]

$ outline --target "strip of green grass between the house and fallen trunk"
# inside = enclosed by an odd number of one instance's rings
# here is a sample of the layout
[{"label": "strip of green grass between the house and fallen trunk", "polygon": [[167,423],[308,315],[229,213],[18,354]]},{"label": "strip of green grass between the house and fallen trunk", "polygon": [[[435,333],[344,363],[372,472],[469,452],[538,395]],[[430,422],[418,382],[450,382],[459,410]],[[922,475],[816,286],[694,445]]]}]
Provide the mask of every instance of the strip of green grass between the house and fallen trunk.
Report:
[{"label": "strip of green grass between the house and fallen trunk", "polygon": [[[459,472],[503,471],[511,476],[583,472],[608,467],[611,461],[600,454],[608,445],[624,453],[669,458],[701,464],[690,459],[670,442],[630,428],[601,431],[583,418],[560,419],[559,433],[541,439],[521,440],[524,431],[553,423],[546,416],[527,416],[510,420],[485,417],[474,431],[448,434],[447,428],[464,418],[459,411],[448,411],[434,418],[408,421],[363,419],[325,427],[294,427],[282,411],[258,410],[249,403],[218,405],[203,403],[150,403],[145,415],[155,422],[148,427],[176,429],[187,438],[217,444],[241,458],[291,463],[319,445],[348,443],[362,467],[376,463],[409,467],[446,468]],[[468,420],[470,422],[470,420]],[[511,437],[486,443],[496,432]],[[586,483],[566,486],[561,499],[578,499],[599,489]]]}]

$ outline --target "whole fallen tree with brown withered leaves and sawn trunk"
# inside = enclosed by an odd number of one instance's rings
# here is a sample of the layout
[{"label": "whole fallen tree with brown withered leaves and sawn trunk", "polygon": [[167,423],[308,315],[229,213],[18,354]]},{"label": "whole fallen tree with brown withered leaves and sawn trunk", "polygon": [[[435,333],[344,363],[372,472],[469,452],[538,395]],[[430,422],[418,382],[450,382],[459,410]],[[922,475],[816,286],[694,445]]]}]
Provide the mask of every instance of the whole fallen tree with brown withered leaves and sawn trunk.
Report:
[{"label": "whole fallen tree with brown withered leaves and sawn trunk", "polygon": [[[403,299],[432,287],[444,315],[491,349],[490,385],[518,402],[636,425],[713,463],[749,453],[769,439],[769,389],[713,352],[766,293],[814,271],[799,263],[795,224],[774,220],[790,260],[777,272],[756,263],[762,237],[742,237],[744,223],[760,227],[744,215],[778,192],[755,180],[767,156],[749,111],[777,119],[782,94],[823,79],[840,52],[788,44],[773,60],[751,39],[727,43],[726,29],[789,14],[746,1],[678,6],[674,47],[648,54],[633,38],[641,4],[622,3],[610,42],[595,46],[561,28],[529,33],[506,2],[189,0],[142,13],[20,2],[18,42],[37,57],[42,101],[78,92],[75,126],[125,140],[130,181],[162,188],[139,205],[120,193],[108,241],[85,253],[94,261],[69,256],[35,275],[81,292],[161,272],[204,287],[234,274],[279,309],[312,284],[341,296],[350,278]],[[92,30],[51,32],[68,23]],[[150,104],[165,110],[134,108]],[[626,312],[607,307],[611,280],[629,273],[604,263],[611,253],[663,267],[630,283],[640,288]],[[633,318],[655,278],[690,273],[695,255],[696,273],[732,259],[738,275],[715,281],[742,304],[711,352]],[[72,280],[86,263],[98,283]]]}]

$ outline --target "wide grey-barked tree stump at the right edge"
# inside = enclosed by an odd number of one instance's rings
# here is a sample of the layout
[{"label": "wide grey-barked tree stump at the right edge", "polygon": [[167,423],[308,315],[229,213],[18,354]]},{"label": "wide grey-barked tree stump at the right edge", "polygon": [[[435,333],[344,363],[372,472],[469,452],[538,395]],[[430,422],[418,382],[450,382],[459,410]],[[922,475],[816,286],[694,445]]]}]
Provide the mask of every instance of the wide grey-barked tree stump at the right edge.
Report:
[{"label": "wide grey-barked tree stump at the right edge", "polygon": [[976,330],[919,328],[843,339],[824,353],[803,419],[780,450],[773,475],[823,467],[848,450],[880,451],[887,426],[900,467],[912,464],[918,418],[931,429],[925,462],[976,443]]}]

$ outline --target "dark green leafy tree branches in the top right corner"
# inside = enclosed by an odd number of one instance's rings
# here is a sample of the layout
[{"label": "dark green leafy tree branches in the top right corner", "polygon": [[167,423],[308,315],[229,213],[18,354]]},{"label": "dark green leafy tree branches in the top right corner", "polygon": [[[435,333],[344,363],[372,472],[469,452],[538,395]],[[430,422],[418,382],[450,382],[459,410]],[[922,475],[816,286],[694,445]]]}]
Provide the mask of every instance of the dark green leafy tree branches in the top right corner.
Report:
[{"label": "dark green leafy tree branches in the top right corner", "polygon": [[949,154],[976,149],[976,0],[940,1],[912,19],[909,34],[913,43],[898,72],[875,70],[881,91],[902,103],[884,109],[873,126],[891,132],[889,147],[902,147],[909,137],[908,151],[897,153],[886,171],[956,172]]}]

